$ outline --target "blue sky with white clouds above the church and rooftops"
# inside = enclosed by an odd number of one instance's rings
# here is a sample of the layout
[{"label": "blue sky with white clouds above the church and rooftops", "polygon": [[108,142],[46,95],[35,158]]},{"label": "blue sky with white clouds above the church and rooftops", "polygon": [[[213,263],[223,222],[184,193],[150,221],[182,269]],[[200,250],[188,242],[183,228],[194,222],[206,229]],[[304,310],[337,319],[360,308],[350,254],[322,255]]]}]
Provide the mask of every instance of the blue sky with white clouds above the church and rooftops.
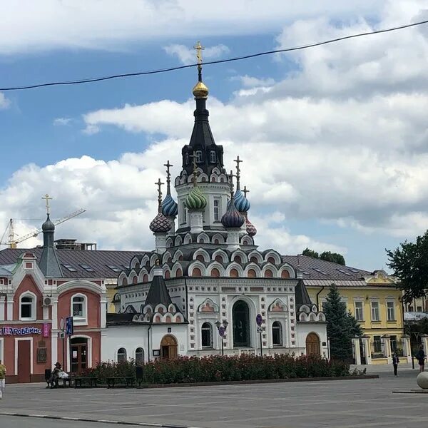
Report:
[{"label": "blue sky with white clouds above the church and rooftops", "polygon": [[[0,87],[148,71],[428,19],[428,0],[1,1]],[[225,167],[239,155],[260,249],[387,269],[428,228],[428,25],[207,65]],[[151,250],[155,181],[180,173],[195,68],[0,91],[0,235],[78,208],[56,238]],[[5,237],[4,239],[7,239]],[[31,248],[41,235],[21,243]],[[4,248],[1,247],[1,248]]]}]

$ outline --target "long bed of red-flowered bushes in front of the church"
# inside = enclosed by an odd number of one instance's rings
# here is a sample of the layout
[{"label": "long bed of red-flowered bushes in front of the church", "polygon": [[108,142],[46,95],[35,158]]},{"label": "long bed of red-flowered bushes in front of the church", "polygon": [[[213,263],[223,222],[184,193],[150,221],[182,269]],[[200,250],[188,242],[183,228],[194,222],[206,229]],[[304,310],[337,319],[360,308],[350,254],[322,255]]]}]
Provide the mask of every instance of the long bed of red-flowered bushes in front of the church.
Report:
[{"label": "long bed of red-flowered bushes in front of the church", "polygon": [[[98,377],[99,382],[104,383],[107,377],[135,376],[136,364],[133,360],[121,363],[101,362],[96,367],[85,370],[81,375]],[[301,357],[293,357],[292,355],[178,357],[173,360],[156,360],[143,365],[143,383],[145,384],[343,377],[349,375],[350,366],[347,363],[329,361],[312,355]]]}]

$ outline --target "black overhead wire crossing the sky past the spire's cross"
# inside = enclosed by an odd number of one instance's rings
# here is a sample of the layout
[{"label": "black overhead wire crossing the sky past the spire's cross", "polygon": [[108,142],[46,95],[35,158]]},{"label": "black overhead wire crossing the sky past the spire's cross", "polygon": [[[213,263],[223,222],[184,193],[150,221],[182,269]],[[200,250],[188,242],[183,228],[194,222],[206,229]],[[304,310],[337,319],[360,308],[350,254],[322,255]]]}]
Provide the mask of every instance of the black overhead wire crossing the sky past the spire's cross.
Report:
[{"label": "black overhead wire crossing the sky past the spire's cross", "polygon": [[[335,43],[337,41],[342,41],[342,40],[347,40],[347,39],[355,39],[356,37],[362,37],[362,36],[371,36],[372,34],[388,33],[389,31],[397,31],[397,30],[402,30],[402,29],[408,29],[409,27],[419,26],[419,25],[423,25],[423,24],[428,24],[428,20],[414,22],[413,24],[396,26],[396,27],[392,27],[389,29],[367,31],[365,33],[358,33],[358,34],[351,34],[350,36],[337,37],[336,39],[319,41],[317,43],[306,44],[306,45],[302,45],[302,46],[295,46],[293,48],[275,49],[274,51],[264,51],[264,52],[258,52],[257,54],[250,54],[250,55],[245,55],[245,56],[235,56],[234,58],[218,59],[217,61],[207,61],[207,62],[204,62],[203,65],[208,66],[211,64],[220,64],[220,63],[227,63],[227,62],[233,62],[233,61],[241,61],[243,59],[256,58],[257,56],[280,54],[282,52],[300,51],[302,49],[314,48],[315,46],[322,46],[325,44],[331,44],[331,43]],[[133,76],[144,76],[147,74],[167,73],[168,71],[182,70],[183,68],[190,68],[190,67],[195,67],[195,66],[198,66],[198,63],[187,64],[185,66],[175,66],[175,67],[170,67],[170,68],[159,68],[158,70],[137,71],[136,73],[122,73],[122,74],[114,74],[112,76],[82,78],[82,79],[73,80],[73,81],[47,82],[47,83],[37,83],[34,85],[27,85],[27,86],[15,86],[15,87],[11,87],[11,88],[0,88],[0,91],[22,91],[24,89],[43,88],[45,86],[78,85],[81,83],[93,83],[93,82],[107,81],[107,80],[111,80],[113,78],[125,78],[125,77],[133,77]]]}]

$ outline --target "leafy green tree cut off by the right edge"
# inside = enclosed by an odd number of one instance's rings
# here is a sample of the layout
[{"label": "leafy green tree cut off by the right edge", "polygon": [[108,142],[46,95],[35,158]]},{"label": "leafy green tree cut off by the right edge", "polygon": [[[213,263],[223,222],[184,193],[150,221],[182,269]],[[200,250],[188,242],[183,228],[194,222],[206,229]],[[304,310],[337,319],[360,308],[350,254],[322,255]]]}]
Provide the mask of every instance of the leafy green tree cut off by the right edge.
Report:
[{"label": "leafy green tree cut off by the right edge", "polygon": [[387,265],[399,278],[399,289],[404,290],[404,301],[425,295],[428,290],[428,230],[418,236],[415,243],[405,240],[395,250],[386,252]]}]

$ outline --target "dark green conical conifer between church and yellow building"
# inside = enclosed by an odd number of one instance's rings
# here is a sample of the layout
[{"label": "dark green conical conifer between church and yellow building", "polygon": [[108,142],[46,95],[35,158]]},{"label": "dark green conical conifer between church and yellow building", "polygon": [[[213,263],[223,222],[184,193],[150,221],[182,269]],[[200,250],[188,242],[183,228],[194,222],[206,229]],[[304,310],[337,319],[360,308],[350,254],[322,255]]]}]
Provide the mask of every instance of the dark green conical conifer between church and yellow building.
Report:
[{"label": "dark green conical conifer between church and yellow building", "polygon": [[330,339],[332,360],[352,358],[352,337],[361,336],[362,330],[355,317],[346,310],[345,302],[340,300],[337,285],[330,285],[330,292],[324,307],[327,320],[327,336]]}]

